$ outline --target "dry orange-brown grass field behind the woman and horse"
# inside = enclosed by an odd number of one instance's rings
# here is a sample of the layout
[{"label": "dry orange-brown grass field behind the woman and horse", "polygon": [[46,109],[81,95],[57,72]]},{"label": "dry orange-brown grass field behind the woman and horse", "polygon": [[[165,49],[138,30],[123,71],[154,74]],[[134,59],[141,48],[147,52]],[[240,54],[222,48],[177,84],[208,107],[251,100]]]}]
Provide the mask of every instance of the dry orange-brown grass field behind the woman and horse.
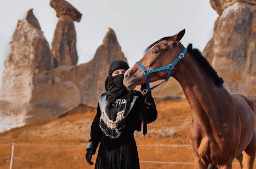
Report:
[{"label": "dry orange-brown grass field behind the woman and horse", "polygon": [[[188,137],[192,120],[188,102],[158,101],[157,109],[158,118],[148,125],[147,135],[135,133],[140,167],[194,168]],[[94,116],[94,108],[79,106],[59,119],[0,134],[0,168],[10,166],[12,143],[13,168],[94,168],[84,158]],[[92,160],[95,159],[96,155]],[[233,168],[240,167],[234,164]]]}]

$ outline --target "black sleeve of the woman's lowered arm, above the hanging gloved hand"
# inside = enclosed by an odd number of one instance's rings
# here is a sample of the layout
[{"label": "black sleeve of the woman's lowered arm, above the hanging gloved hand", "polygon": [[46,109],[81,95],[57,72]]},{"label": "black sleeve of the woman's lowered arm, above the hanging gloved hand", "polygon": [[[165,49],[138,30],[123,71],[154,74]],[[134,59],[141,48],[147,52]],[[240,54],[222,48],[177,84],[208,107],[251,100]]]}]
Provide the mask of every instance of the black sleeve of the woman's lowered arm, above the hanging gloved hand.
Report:
[{"label": "black sleeve of the woman's lowered arm, above the hanging gloved hand", "polygon": [[92,127],[91,127],[91,139],[89,140],[89,142],[93,142],[96,145],[99,144],[99,142],[101,140],[101,136],[102,136],[102,131],[99,128],[100,116],[101,116],[101,111],[100,111],[99,104],[98,104],[97,114],[93,120]]}]

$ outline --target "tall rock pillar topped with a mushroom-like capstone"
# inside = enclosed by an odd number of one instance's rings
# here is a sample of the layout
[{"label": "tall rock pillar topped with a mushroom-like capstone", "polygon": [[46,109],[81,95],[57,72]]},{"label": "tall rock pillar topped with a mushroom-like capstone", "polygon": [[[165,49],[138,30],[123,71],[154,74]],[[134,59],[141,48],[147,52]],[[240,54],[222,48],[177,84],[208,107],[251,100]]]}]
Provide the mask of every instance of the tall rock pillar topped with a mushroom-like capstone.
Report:
[{"label": "tall rock pillar topped with a mushroom-like capstone", "polygon": [[78,55],[74,21],[79,22],[82,14],[64,0],[52,0],[50,6],[55,9],[59,18],[51,46],[53,67],[77,65]]}]

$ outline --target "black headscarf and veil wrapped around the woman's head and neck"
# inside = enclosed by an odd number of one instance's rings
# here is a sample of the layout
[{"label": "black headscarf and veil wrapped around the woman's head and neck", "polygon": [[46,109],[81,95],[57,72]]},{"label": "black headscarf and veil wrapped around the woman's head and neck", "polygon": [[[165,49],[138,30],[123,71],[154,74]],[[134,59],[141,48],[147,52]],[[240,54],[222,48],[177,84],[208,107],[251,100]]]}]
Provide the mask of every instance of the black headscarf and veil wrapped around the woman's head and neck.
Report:
[{"label": "black headscarf and veil wrapped around the woman's head and neck", "polygon": [[106,106],[112,105],[112,103],[116,99],[128,99],[128,101],[132,100],[133,91],[127,90],[123,85],[123,74],[119,74],[117,76],[112,76],[112,73],[118,69],[128,70],[130,67],[124,61],[114,61],[110,65],[109,76],[105,81],[105,89],[106,92],[106,101],[108,102]]}]

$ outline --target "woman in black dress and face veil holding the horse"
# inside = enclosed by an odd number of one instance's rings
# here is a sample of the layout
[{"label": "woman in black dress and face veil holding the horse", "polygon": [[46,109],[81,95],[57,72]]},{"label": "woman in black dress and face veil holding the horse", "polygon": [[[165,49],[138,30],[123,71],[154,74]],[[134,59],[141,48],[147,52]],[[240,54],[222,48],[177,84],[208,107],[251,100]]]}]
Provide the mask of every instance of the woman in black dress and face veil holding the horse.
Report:
[{"label": "woman in black dress and face veil holding the horse", "polygon": [[143,96],[140,92],[127,90],[123,86],[123,77],[127,69],[129,66],[126,62],[113,62],[105,81],[106,92],[99,97],[86,154],[87,162],[93,165],[92,155],[95,154],[100,142],[95,168],[139,168],[134,131],[141,131],[143,122],[145,135],[146,124],[157,118],[151,92]]}]

